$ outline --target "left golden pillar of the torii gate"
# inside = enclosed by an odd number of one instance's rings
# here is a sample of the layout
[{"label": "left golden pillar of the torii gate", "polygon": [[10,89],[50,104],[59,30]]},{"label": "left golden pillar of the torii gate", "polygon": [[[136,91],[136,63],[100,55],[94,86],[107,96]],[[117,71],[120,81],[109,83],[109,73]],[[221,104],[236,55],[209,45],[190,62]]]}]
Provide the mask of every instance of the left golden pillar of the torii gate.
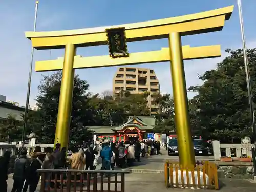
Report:
[{"label": "left golden pillar of the torii gate", "polygon": [[54,144],[60,143],[61,147],[68,147],[69,143],[69,131],[75,74],[75,70],[73,69],[75,52],[75,46],[73,44],[66,45],[60,87],[56,133],[54,140]]}]

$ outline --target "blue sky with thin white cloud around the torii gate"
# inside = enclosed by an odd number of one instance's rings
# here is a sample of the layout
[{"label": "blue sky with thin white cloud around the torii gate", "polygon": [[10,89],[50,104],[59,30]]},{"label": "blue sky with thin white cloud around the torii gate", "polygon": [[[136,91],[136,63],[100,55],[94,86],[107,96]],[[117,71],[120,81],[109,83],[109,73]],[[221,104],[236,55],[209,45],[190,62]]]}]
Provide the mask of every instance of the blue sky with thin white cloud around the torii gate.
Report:
[{"label": "blue sky with thin white cloud around the torii gate", "polygon": [[[9,1],[0,0],[0,94],[6,95],[8,100],[26,102],[28,70],[30,65],[31,42],[25,38],[25,31],[33,30],[35,1]],[[40,0],[38,9],[37,31],[55,31],[68,29],[81,29],[126,23],[142,22],[146,20],[174,17],[208,11],[235,5],[231,19],[225,22],[222,31],[182,37],[183,45],[205,46],[221,44],[223,57],[226,48],[241,48],[241,34],[236,0]],[[243,14],[247,47],[256,47],[256,1],[244,0]],[[168,40],[140,41],[128,44],[129,52],[160,50],[167,47]],[[63,50],[53,50],[52,59],[63,56]],[[108,55],[107,46],[79,48],[78,55],[95,56]],[[215,69],[221,58],[185,61],[187,88],[200,85],[202,82],[197,74],[206,70]],[[49,51],[35,51],[34,60],[49,59]],[[170,81],[170,64],[153,63],[136,65],[137,67],[154,69],[160,81],[161,92],[172,94]],[[117,67],[80,69],[76,73],[90,84],[90,91],[102,93],[112,90],[112,79]],[[52,72],[51,72],[52,73]],[[96,76],[96,73],[99,75]],[[41,75],[33,71],[30,104],[34,105],[37,95],[37,86]],[[191,98],[195,94],[188,93]]]}]

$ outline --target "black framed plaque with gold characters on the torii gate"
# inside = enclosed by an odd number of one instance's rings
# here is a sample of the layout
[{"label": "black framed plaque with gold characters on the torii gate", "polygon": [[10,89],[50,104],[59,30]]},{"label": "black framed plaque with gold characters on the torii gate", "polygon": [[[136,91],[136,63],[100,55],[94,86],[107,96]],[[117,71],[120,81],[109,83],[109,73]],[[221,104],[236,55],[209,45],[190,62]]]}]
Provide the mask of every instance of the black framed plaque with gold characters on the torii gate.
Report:
[{"label": "black framed plaque with gold characters on the torii gate", "polygon": [[112,58],[127,57],[127,42],[124,27],[106,29],[109,53]]}]

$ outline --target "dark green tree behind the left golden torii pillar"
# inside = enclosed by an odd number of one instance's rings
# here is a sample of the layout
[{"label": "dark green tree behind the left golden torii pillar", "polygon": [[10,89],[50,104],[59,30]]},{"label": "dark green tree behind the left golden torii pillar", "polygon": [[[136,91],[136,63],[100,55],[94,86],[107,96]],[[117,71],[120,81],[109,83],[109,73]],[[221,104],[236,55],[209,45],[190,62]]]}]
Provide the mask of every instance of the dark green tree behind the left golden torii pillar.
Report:
[{"label": "dark green tree behind the left golden torii pillar", "polygon": [[[62,72],[58,71],[49,78],[44,76],[38,86],[39,94],[36,101],[39,109],[35,121],[41,125],[40,130],[36,132],[42,143],[54,142],[61,79]],[[92,132],[86,127],[94,125],[94,110],[89,104],[91,94],[88,88],[87,81],[75,75],[69,135],[71,144],[86,141],[92,136]]]}]

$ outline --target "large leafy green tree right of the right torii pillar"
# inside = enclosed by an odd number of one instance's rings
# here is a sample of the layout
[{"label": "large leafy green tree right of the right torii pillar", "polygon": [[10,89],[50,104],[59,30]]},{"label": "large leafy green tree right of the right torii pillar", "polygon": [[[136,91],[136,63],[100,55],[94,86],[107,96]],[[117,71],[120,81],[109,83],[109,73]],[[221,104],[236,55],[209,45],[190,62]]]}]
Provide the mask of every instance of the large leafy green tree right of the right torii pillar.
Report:
[{"label": "large leafy green tree right of the right torii pillar", "polygon": [[[230,142],[233,138],[251,136],[243,50],[230,50],[230,56],[218,63],[216,70],[206,71],[204,81],[193,98],[197,109],[194,125],[204,138]],[[253,102],[256,101],[256,49],[247,50]],[[196,118],[195,118],[196,117]],[[200,127],[200,130],[198,129]]]}]

